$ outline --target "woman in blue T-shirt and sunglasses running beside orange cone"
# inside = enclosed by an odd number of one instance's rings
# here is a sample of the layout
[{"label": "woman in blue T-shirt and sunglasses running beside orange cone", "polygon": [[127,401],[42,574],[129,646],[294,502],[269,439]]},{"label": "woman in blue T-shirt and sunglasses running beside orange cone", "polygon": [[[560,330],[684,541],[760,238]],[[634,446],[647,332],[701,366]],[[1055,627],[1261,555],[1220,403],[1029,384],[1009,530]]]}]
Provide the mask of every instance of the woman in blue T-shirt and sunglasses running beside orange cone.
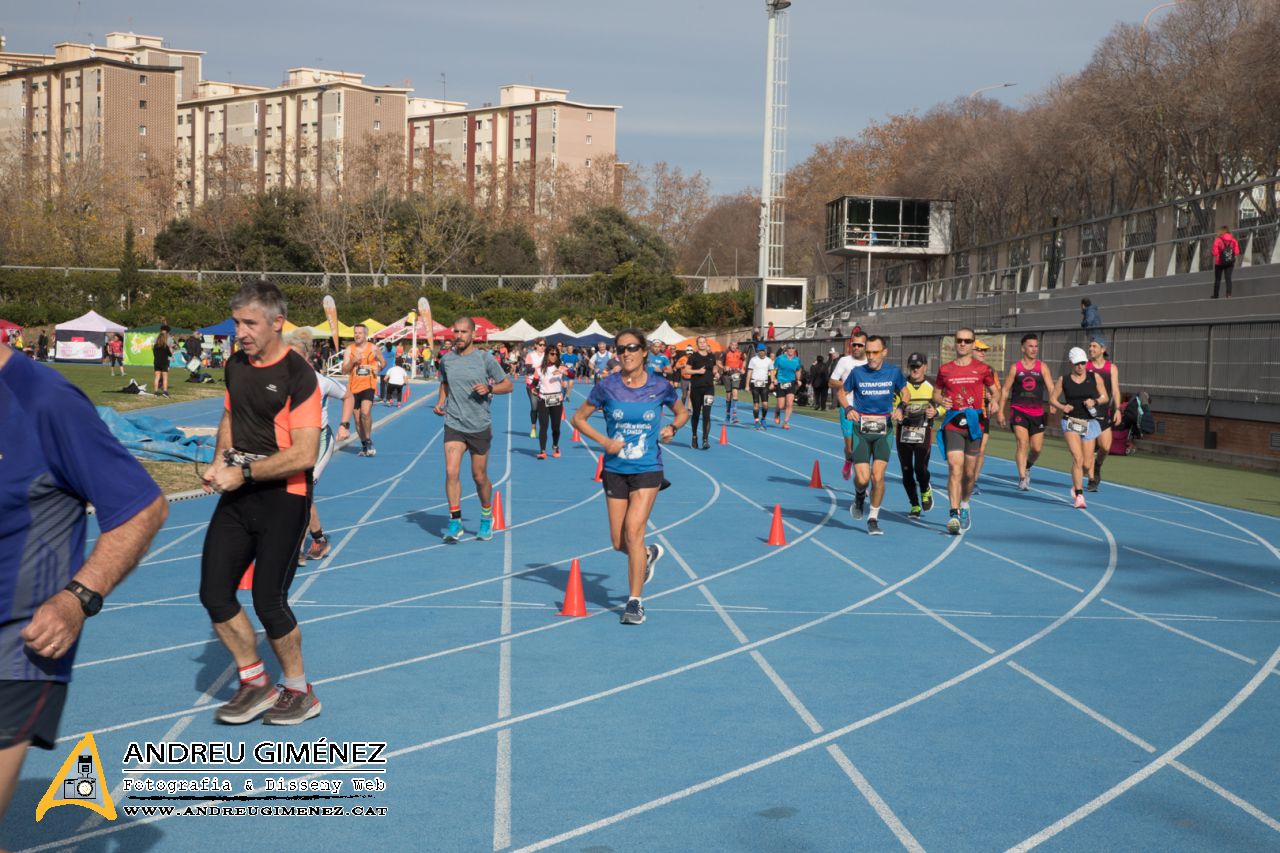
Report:
[{"label": "woman in blue T-shirt and sunglasses running beside orange cone", "polygon": [[[623,625],[644,621],[640,594],[653,580],[654,565],[662,558],[660,544],[645,546],[644,532],[658,491],[666,488],[662,451],[658,442],[669,442],[689,420],[676,388],[660,375],[645,370],[644,332],[618,333],[614,350],[622,361],[621,373],[595,383],[586,402],[573,412],[573,426],[604,448],[604,496],[609,508],[609,537],[613,549],[627,555],[630,598],[622,611]],[[649,356],[653,361],[654,356]],[[676,419],[662,424],[667,406]],[[608,435],[591,425],[591,415],[604,414]]]}]

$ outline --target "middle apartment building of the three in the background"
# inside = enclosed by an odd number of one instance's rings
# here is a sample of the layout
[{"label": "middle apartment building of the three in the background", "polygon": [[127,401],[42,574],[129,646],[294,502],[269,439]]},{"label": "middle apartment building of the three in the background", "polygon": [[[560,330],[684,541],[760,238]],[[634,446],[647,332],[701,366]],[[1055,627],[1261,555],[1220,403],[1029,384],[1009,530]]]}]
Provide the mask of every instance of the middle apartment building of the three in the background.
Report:
[{"label": "middle apartment building of the three in the background", "polygon": [[332,190],[371,140],[402,155],[412,90],[364,79],[291,68],[275,88],[201,82],[177,108],[178,210],[223,191]]}]

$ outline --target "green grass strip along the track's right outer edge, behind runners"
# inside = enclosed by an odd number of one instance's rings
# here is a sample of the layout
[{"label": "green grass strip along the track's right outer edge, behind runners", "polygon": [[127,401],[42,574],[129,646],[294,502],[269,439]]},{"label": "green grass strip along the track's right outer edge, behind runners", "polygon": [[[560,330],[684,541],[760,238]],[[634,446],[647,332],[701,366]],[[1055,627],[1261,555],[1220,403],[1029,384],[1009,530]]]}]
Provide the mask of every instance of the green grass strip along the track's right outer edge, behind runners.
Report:
[{"label": "green grass strip along the track's right outer edge, behind runners", "polygon": [[[746,400],[744,402],[744,393]],[[716,414],[723,412],[723,391],[719,392],[719,402]],[[772,400],[771,400],[772,403]],[[831,402],[828,401],[828,405]],[[751,420],[751,396],[739,392],[737,396],[739,418],[744,423]],[[745,410],[745,416],[744,416]],[[836,425],[838,416],[835,410],[814,411],[808,406],[796,406],[796,414],[812,415],[832,421],[832,441],[840,434]],[[773,425],[772,418],[769,426]],[[803,433],[801,433],[803,434]],[[813,437],[817,438],[817,437]],[[1014,459],[1014,435],[1007,429],[996,429],[987,443],[987,455],[1000,459]],[[833,451],[835,452],[835,451]],[[936,451],[934,451],[936,452]],[[896,461],[890,462],[897,465]],[[1055,471],[1071,470],[1071,455],[1066,450],[1066,443],[1053,435],[1044,437],[1044,451],[1041,453],[1036,467],[1044,467]],[[1004,465],[992,466],[987,462],[983,471],[1010,475],[1011,469]],[[1280,516],[1280,493],[1276,487],[1280,479],[1275,474],[1245,469],[1229,467],[1213,462],[1197,462],[1192,460],[1171,459],[1167,456],[1155,456],[1142,452],[1139,442],[1138,452],[1134,456],[1110,456],[1102,466],[1102,488],[1106,484],[1123,483],[1139,489],[1153,489],[1166,494],[1196,498],[1210,503],[1235,507],[1238,510],[1252,510],[1265,515]]]}]

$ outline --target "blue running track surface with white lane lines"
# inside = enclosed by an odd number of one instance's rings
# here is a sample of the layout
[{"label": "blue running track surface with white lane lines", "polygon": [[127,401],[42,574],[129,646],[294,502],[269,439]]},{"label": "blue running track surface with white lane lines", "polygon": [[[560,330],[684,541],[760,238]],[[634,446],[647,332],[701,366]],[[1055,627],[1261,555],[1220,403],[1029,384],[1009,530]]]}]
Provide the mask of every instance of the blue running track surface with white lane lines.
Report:
[{"label": "blue running track surface with white lane lines", "polygon": [[[1111,484],[1079,511],[1065,475],[1019,493],[989,459],[957,538],[945,500],[906,519],[895,460],[887,535],[870,538],[835,424],[731,426],[722,447],[721,405],[709,451],[687,429],[663,450],[673,487],[650,535],[668,556],[649,621],[623,628],[594,448],[564,424],[564,456],[536,460],[524,391],[499,398],[489,470],[508,530],[443,546],[430,396],[376,409],[378,456],[339,451],[317,489],[334,549],[292,596],[324,713],[214,722],[234,675],[196,597],[214,503],[177,502],[88,622],[63,743],[31,752],[4,845],[259,849],[288,827],[316,850],[1280,848],[1280,520]],[[163,414],[216,418],[189,406]],[[808,488],[815,459],[826,489]],[[785,547],[764,542],[774,503]],[[557,616],[573,557],[588,619]],[[388,815],[127,817],[189,803],[119,793],[114,822],[58,808],[36,825],[84,731],[118,792],[131,742],[385,740],[385,792],[292,804]],[[201,775],[219,774],[152,777]]]}]

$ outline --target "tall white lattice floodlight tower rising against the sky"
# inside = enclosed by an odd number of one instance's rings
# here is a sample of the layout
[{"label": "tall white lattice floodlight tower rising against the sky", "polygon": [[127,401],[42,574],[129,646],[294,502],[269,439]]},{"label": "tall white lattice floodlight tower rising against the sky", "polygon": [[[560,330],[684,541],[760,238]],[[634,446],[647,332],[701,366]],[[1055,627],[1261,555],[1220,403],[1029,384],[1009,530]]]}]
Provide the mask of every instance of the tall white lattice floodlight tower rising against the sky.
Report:
[{"label": "tall white lattice floodlight tower rising against the sky", "polygon": [[787,6],[764,0],[769,44],[764,64],[764,172],[760,179],[760,279],[782,275],[782,215],[787,170]]}]

